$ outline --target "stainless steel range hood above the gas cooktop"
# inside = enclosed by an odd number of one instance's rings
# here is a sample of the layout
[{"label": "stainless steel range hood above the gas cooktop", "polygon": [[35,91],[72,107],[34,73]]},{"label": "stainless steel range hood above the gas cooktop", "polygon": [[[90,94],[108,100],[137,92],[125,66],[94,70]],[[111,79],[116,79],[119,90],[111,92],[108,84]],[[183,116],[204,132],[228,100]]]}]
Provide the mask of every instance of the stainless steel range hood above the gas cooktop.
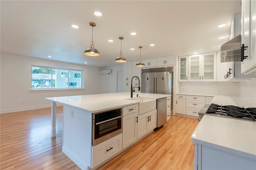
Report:
[{"label": "stainless steel range hood above the gas cooktop", "polygon": [[221,63],[241,61],[241,34],[220,46]]}]

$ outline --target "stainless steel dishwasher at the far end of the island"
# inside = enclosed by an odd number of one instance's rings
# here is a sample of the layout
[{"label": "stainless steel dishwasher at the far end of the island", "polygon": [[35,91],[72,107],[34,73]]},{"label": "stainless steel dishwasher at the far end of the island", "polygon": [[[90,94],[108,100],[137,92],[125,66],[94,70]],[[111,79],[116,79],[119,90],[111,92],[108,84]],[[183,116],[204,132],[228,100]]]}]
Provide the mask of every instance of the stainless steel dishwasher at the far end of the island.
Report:
[{"label": "stainless steel dishwasher at the far end of the island", "polygon": [[157,127],[161,127],[167,122],[167,98],[157,99],[156,109],[157,109]]}]

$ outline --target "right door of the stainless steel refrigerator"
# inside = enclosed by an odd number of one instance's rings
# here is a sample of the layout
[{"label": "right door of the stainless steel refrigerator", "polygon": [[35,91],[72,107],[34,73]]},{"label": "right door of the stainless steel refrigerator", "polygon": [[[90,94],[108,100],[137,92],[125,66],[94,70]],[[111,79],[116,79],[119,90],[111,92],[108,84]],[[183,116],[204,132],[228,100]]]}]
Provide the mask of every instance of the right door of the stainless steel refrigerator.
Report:
[{"label": "right door of the stainless steel refrigerator", "polygon": [[172,72],[156,73],[156,94],[172,95]]}]

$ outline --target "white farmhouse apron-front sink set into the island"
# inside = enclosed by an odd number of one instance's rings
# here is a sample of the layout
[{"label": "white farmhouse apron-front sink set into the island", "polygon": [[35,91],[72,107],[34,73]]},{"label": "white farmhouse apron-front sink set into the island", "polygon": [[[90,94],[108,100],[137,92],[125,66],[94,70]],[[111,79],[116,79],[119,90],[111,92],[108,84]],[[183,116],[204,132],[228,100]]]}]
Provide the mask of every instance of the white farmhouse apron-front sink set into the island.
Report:
[{"label": "white farmhouse apron-front sink set into the island", "polygon": [[130,98],[128,100],[135,100],[139,101],[138,103],[138,115],[142,115],[144,113],[147,113],[149,111],[156,109],[156,100],[155,99],[147,99],[147,98]]}]

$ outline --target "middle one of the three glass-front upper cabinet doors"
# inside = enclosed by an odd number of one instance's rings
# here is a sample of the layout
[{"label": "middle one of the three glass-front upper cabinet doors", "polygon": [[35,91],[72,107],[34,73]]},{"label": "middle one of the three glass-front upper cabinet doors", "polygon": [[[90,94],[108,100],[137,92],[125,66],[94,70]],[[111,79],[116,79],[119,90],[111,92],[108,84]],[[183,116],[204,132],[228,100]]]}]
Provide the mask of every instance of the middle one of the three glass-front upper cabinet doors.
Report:
[{"label": "middle one of the three glass-front upper cabinet doors", "polygon": [[188,56],[188,81],[201,81],[201,54]]}]

